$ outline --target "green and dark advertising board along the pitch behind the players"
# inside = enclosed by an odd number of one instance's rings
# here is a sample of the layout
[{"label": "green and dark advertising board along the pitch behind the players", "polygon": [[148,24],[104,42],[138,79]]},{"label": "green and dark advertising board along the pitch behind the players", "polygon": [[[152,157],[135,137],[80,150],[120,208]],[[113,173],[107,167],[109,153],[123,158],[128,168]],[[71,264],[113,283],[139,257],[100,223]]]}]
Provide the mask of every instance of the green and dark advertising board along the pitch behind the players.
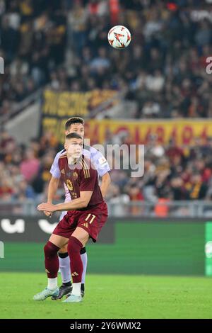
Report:
[{"label": "green and dark advertising board along the pitch behind the players", "polygon": [[[43,245],[54,222],[1,219],[0,270],[43,271]],[[90,273],[212,276],[212,222],[207,220],[110,218],[99,242],[86,248]]]}]

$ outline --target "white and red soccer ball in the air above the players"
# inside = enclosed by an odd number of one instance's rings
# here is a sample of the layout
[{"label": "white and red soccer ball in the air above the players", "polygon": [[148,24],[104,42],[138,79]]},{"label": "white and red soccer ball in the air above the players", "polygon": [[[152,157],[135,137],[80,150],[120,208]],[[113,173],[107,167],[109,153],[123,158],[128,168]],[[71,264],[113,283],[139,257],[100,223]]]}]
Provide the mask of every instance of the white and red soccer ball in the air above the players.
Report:
[{"label": "white and red soccer ball in the air above the players", "polygon": [[131,33],[124,26],[114,26],[110,29],[107,39],[115,49],[124,49],[131,42]]}]

